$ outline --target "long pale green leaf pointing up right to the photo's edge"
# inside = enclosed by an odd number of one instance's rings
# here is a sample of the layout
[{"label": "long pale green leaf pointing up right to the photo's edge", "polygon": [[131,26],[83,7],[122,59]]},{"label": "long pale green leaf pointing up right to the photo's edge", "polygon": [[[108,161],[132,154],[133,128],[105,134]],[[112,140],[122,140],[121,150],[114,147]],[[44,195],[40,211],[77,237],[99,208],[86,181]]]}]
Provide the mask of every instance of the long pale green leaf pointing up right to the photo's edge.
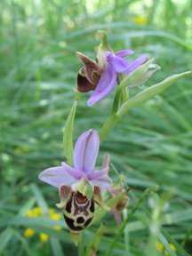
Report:
[{"label": "long pale green leaf pointing up right to the photo's edge", "polygon": [[119,108],[116,115],[118,117],[124,116],[124,114],[130,109],[133,108],[140,103],[151,99],[152,97],[156,96],[157,94],[164,92],[165,89],[169,88],[174,82],[176,82],[178,79],[180,79],[183,76],[187,76],[191,74],[192,71],[183,72],[180,74],[175,74],[173,76],[169,76],[164,79],[164,81],[155,84],[148,89],[144,90],[143,92],[140,92],[136,96],[132,97],[132,99],[126,101],[121,108]]}]

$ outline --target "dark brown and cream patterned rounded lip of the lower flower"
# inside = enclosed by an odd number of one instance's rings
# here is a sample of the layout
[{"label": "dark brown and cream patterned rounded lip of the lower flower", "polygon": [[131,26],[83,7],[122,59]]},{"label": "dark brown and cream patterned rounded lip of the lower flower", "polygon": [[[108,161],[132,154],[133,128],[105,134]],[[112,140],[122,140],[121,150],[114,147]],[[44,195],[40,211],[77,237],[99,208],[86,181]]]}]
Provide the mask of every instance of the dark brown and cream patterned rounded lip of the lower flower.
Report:
[{"label": "dark brown and cream patterned rounded lip of the lower flower", "polygon": [[80,192],[72,192],[64,208],[64,218],[68,228],[79,233],[87,228],[92,221],[94,201],[83,196]]}]

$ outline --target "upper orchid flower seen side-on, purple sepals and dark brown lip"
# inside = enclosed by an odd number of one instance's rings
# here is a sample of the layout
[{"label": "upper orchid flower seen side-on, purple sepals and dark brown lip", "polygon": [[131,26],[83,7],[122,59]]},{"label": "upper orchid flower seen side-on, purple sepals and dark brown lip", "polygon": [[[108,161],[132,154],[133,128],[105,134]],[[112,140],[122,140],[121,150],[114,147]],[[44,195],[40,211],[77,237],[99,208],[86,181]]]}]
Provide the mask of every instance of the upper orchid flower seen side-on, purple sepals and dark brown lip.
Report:
[{"label": "upper orchid flower seen side-on, purple sepals and dark brown lip", "polygon": [[132,50],[123,50],[116,53],[100,51],[95,62],[81,52],[76,52],[76,55],[84,63],[84,67],[80,69],[77,76],[77,90],[79,92],[94,91],[87,101],[89,107],[105,99],[113,91],[118,74],[123,73],[128,76],[148,60],[146,55],[141,55],[131,62],[124,60],[124,57],[132,53]]}]

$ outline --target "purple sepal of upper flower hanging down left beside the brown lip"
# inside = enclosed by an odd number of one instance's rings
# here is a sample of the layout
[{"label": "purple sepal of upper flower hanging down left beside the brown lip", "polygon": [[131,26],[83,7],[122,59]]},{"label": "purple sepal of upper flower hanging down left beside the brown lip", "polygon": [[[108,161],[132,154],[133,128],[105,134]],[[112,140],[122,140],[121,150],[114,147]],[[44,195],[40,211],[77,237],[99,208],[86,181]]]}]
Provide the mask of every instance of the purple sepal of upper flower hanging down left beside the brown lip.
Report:
[{"label": "purple sepal of upper flower hanging down left beside the brown lip", "polygon": [[100,76],[100,82],[97,85],[92,96],[87,101],[87,105],[91,107],[93,104],[100,100],[105,99],[108,94],[114,89],[116,85],[116,70],[113,68],[112,64],[108,63],[107,68]]}]

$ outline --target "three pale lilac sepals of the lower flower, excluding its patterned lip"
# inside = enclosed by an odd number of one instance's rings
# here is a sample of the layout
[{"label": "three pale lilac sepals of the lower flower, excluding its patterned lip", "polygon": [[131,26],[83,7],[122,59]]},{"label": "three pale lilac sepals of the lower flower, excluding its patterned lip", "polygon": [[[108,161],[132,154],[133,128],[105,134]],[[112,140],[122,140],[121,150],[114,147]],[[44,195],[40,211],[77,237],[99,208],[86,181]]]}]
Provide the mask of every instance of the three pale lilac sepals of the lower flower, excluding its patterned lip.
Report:
[{"label": "three pale lilac sepals of the lower flower, excluding its patterned lip", "polygon": [[95,171],[95,162],[100,147],[100,137],[95,130],[84,132],[76,141],[74,149],[74,167],[66,163],[52,167],[39,174],[39,179],[60,188],[70,186],[73,191],[78,190],[76,184],[82,180],[89,182],[92,187],[97,186],[100,190],[109,188],[111,180],[108,177],[108,166],[101,171]]}]

